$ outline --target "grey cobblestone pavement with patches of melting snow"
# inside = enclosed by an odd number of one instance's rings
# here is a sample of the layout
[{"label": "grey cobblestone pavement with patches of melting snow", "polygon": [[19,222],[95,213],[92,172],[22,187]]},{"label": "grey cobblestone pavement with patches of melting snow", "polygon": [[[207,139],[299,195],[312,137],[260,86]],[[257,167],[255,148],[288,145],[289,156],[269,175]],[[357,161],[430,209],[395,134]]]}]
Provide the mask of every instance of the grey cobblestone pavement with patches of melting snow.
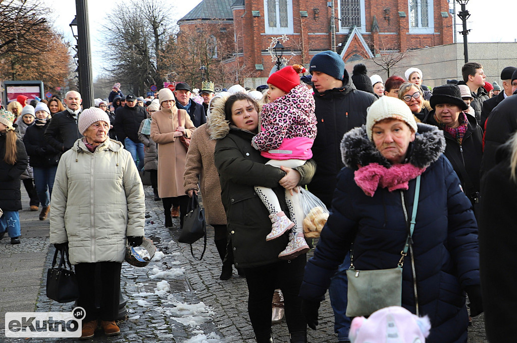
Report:
[{"label": "grey cobblestone pavement with patches of melting snow", "polygon": [[[150,187],[144,188],[149,216],[146,237],[154,240],[163,255],[158,253],[156,257],[162,257],[144,268],[123,264],[121,290],[127,300],[128,315],[119,323],[121,335],[107,337],[99,330],[88,341],[254,342],[247,314],[246,280],[235,270],[230,280],[219,280],[221,261],[213,244],[213,231],[208,227],[207,250],[203,260],[197,261],[187,244],[177,242],[179,229],[164,228],[161,202],[153,201]],[[5,238],[0,242],[0,291],[4,292],[0,295],[0,342],[76,341],[71,338],[5,338],[4,314],[7,311],[69,312],[73,307],[72,303],[59,304],[45,296],[45,275],[54,248],[48,242],[48,220],[39,222],[37,215],[38,212],[20,211],[22,244],[11,246]],[[29,229],[25,230],[24,222],[31,223],[27,226]],[[36,227],[38,230],[34,229],[34,223],[40,225]],[[179,226],[179,220],[175,225]],[[202,241],[196,242],[194,254],[199,256],[202,248]],[[25,260],[31,261],[30,268],[23,267]],[[14,284],[18,287],[15,291],[10,287]],[[5,292],[9,291],[13,299],[6,303],[4,300],[9,299],[6,296],[9,293]],[[289,341],[285,320],[273,325],[272,330],[277,343]],[[474,319],[469,331],[469,342],[486,342],[481,316]],[[337,341],[328,300],[320,308],[318,330],[309,329],[308,338],[312,343]]]}]

